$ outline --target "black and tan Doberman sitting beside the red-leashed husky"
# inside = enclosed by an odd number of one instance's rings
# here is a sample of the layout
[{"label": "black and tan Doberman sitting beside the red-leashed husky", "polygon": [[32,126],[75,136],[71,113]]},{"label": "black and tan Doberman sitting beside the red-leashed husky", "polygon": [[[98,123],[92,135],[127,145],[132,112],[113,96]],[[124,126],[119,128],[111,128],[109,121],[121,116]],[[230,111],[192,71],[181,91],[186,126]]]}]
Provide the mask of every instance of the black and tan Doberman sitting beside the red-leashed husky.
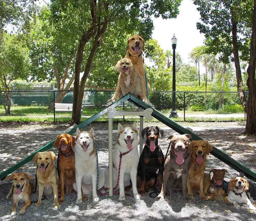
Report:
[{"label": "black and tan Doberman sitting beside the red-leashed husky", "polygon": [[156,185],[157,179],[159,187],[162,186],[164,155],[158,144],[158,137],[162,138],[164,131],[159,127],[146,127],[141,131],[141,136],[147,137],[137,170],[137,187],[139,193],[143,194]]}]

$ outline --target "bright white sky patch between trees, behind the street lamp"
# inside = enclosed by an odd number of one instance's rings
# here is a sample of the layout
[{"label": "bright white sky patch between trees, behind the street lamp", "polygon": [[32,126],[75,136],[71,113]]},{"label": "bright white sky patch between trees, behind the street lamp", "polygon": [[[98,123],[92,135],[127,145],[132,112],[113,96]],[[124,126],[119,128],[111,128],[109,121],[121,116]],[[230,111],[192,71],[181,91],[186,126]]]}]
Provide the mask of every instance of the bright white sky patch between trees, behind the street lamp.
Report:
[{"label": "bright white sky patch between trees, behind the street lamp", "polygon": [[204,44],[204,35],[196,29],[200,14],[191,0],[182,0],[179,11],[177,18],[154,18],[152,38],[157,40],[164,51],[172,50],[171,39],[175,34],[178,39],[176,53],[180,53],[183,63],[189,63],[188,54],[191,50]]}]

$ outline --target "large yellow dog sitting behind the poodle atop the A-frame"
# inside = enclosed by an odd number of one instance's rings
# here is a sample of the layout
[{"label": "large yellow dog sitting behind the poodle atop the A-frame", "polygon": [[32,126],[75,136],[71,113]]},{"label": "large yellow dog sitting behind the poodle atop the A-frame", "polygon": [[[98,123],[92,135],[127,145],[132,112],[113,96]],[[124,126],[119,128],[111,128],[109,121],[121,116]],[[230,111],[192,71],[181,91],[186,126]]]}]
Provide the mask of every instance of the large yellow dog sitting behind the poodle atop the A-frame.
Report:
[{"label": "large yellow dog sitting behind the poodle atop the A-frame", "polygon": [[[136,91],[139,91],[141,94],[140,99],[147,102],[146,94],[146,78],[145,78],[145,66],[143,62],[142,51],[144,51],[145,41],[140,35],[134,35],[130,37],[127,41],[126,48],[126,58],[129,58],[132,61],[135,73],[140,79],[140,83],[136,85]],[[150,91],[150,86],[148,83],[148,93]]]}]

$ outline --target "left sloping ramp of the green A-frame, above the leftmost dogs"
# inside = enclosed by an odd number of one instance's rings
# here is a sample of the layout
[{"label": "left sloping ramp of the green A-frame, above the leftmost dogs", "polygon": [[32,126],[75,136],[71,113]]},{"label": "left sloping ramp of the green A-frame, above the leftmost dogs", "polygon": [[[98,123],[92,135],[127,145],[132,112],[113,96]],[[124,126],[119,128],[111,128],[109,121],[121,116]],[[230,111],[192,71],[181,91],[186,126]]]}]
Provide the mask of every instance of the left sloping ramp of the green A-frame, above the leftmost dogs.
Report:
[{"label": "left sloping ramp of the green A-frame, above the leftmost dogs", "polygon": [[[122,97],[121,99],[117,100],[116,102],[114,102],[113,104],[109,105],[108,107],[117,107],[120,104],[122,104],[124,101],[128,100],[130,98],[130,95],[125,95],[124,97]],[[96,119],[98,119],[99,117],[101,117],[102,115],[106,114],[108,112],[108,107],[105,107],[102,111],[100,111],[97,114],[94,114],[92,117],[90,117],[88,120],[80,123],[79,125],[77,125],[77,127],[79,129],[84,128],[86,125],[88,125],[89,123],[95,121]],[[76,132],[76,127],[71,128],[70,130],[68,130],[66,133],[72,135],[73,133]],[[42,148],[38,149],[37,151],[31,153],[31,155],[29,155],[28,157],[20,160],[20,162],[18,162],[17,164],[15,164],[14,166],[5,168],[4,170],[1,171],[0,173],[0,180],[3,180],[8,174],[12,173],[13,171],[17,170],[20,166],[23,166],[24,164],[28,163],[30,160],[33,159],[33,157],[35,156],[35,154],[37,152],[42,152],[42,151],[47,151],[49,149],[51,149],[53,147],[53,143],[55,140],[52,140],[50,143],[46,144],[45,146],[43,146]]]}]

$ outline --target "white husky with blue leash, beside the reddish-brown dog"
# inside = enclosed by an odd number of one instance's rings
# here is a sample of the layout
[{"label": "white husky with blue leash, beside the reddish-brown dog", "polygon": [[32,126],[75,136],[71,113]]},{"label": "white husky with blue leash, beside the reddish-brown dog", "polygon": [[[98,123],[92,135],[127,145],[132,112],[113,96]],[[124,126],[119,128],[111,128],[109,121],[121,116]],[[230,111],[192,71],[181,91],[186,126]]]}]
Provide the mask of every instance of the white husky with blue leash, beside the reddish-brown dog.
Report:
[{"label": "white husky with blue leash, beside the reddish-brown dog", "polygon": [[[94,130],[80,131],[76,129],[76,145],[75,152],[75,169],[76,169],[76,183],[73,188],[77,191],[76,203],[82,203],[82,191],[84,194],[92,192],[92,200],[99,201],[96,191],[97,184],[97,162],[96,162],[96,148],[93,142]],[[98,189],[103,187],[104,171],[99,171]]]}]

